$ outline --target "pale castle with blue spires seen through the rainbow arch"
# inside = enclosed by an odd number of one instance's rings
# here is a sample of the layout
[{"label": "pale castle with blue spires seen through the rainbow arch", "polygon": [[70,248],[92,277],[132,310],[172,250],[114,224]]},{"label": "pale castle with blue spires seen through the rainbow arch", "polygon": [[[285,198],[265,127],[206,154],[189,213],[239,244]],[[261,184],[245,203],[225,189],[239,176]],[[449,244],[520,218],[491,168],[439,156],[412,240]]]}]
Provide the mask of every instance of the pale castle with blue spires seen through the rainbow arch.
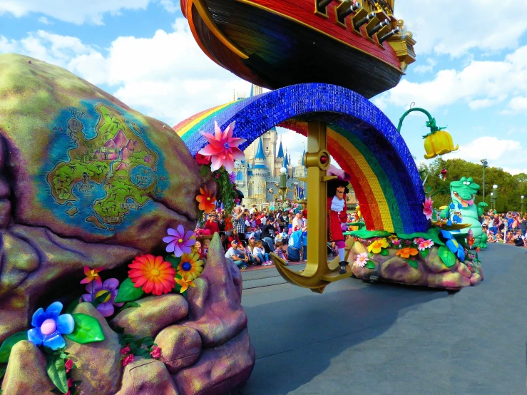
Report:
[{"label": "pale castle with blue spires seen through the rainbow arch", "polygon": [[[262,93],[262,88],[253,85],[251,96]],[[278,145],[278,148],[277,148]],[[300,178],[307,177],[307,169],[302,158],[296,166],[291,162],[291,155],[284,150],[282,140],[278,138],[276,128],[267,130],[260,138],[249,145],[245,151],[245,160],[235,162],[236,188],[244,195],[244,205],[256,204],[265,206],[280,196],[280,169],[287,170],[287,198],[298,197],[298,192],[307,198],[307,184]],[[303,191],[302,189],[303,188]]]}]

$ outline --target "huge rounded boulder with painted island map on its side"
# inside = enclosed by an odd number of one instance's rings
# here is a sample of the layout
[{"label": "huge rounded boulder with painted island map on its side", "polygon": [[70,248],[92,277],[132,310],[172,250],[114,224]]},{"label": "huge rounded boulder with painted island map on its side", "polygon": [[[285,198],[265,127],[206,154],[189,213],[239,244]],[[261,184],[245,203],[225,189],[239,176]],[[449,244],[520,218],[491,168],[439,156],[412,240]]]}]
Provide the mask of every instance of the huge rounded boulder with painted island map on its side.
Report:
[{"label": "huge rounded boulder with painted island map on its side", "polygon": [[202,183],[169,125],[63,68],[0,55],[0,342],[36,302],[66,306],[84,265],[118,268],[162,249],[168,227],[193,229]]}]

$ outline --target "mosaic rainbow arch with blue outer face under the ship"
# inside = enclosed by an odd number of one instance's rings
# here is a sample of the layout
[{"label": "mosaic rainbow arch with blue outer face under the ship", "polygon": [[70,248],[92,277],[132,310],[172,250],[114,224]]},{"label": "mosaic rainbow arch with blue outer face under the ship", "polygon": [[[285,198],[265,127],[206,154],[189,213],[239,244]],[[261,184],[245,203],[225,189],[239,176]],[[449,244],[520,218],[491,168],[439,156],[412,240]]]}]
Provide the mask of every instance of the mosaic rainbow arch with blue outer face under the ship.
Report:
[{"label": "mosaic rainbow arch with blue outer face under the ship", "polygon": [[424,189],[416,163],[387,116],[367,98],[341,86],[305,83],[227,103],[196,114],[174,126],[192,155],[207,141],[214,121],[226,128],[236,121],[234,135],[247,139],[240,148],[273,126],[307,134],[308,120],[328,124],[329,153],[352,175],[352,186],[369,230],[426,232]]}]

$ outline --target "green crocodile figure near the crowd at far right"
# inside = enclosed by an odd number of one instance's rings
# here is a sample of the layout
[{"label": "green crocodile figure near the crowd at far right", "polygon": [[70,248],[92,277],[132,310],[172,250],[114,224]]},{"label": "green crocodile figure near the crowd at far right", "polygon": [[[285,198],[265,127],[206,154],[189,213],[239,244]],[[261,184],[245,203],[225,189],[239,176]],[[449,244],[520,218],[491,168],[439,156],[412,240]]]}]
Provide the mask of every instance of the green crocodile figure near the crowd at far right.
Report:
[{"label": "green crocodile figure near the crowd at far right", "polygon": [[486,248],[487,235],[481,229],[479,217],[483,215],[483,208],[488,205],[485,202],[474,205],[474,198],[478,191],[479,185],[474,183],[471,177],[462,177],[459,181],[452,181],[450,183],[452,202],[441,211],[441,218],[449,218],[454,223],[470,224],[470,227],[459,232],[468,235],[469,230],[472,230],[475,240],[474,248]]}]

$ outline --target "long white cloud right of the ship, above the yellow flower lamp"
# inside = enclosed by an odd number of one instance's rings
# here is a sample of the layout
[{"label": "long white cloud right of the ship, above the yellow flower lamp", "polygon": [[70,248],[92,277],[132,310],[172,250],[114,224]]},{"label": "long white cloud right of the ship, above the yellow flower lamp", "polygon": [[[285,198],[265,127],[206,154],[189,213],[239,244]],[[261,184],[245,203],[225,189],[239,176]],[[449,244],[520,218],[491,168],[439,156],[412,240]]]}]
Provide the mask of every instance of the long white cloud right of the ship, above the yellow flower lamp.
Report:
[{"label": "long white cloud right of the ship, above the yellow flower lamp", "polygon": [[503,61],[471,61],[461,71],[441,70],[433,80],[423,83],[403,80],[377,96],[374,103],[381,108],[406,107],[414,101],[419,107],[434,110],[462,101],[473,102],[477,108],[486,104],[485,100],[503,101],[507,96],[526,94],[527,46],[522,46]]}]

